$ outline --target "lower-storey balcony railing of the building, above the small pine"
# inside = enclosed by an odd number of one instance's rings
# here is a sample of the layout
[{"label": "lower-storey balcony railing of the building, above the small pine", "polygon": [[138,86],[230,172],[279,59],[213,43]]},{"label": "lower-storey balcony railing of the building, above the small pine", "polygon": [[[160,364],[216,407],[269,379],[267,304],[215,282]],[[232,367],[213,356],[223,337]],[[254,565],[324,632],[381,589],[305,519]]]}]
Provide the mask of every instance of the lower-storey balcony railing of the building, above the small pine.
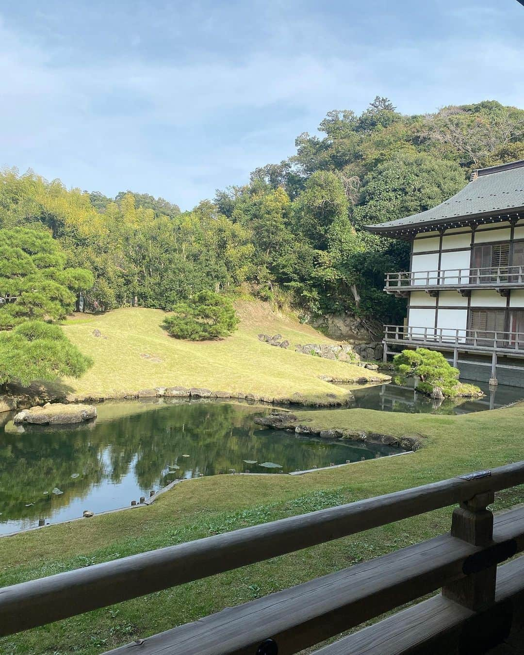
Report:
[{"label": "lower-storey balcony railing of the building, above the small pine", "polygon": [[384,341],[413,341],[417,345],[468,346],[485,352],[524,354],[524,332],[453,327],[384,326]]}]

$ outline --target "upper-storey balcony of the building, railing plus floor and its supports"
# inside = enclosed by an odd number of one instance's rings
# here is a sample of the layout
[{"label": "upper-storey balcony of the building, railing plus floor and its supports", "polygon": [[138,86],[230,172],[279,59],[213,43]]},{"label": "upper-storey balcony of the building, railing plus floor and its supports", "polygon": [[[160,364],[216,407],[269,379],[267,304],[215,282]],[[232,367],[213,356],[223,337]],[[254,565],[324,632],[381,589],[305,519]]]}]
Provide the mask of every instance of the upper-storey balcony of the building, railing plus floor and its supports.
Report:
[{"label": "upper-storey balcony of the building, railing plus floor and its supports", "polygon": [[386,273],[384,291],[407,297],[410,291],[458,290],[469,295],[476,289],[494,289],[508,295],[511,289],[524,288],[523,266],[499,266],[483,269],[449,269],[446,271],[411,271]]}]

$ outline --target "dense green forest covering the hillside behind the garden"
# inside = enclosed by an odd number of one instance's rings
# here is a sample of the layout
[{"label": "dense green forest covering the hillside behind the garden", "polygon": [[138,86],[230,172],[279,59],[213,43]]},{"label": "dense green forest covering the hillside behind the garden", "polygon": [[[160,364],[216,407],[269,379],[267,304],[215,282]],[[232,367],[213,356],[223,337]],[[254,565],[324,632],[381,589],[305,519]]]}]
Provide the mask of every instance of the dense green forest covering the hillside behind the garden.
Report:
[{"label": "dense green forest covering the hillside behind the garden", "polygon": [[362,226],[431,208],[475,168],[524,159],[524,110],[485,101],[408,116],[377,97],[360,115],[329,111],[319,130],[187,212],[145,193],[108,198],[4,170],[0,228],[50,231],[68,266],[94,274],[90,309],[170,310],[198,291],[248,284],[301,320],[348,312],[397,322],[403,301],[384,295],[383,278],[407,267],[408,246]]}]

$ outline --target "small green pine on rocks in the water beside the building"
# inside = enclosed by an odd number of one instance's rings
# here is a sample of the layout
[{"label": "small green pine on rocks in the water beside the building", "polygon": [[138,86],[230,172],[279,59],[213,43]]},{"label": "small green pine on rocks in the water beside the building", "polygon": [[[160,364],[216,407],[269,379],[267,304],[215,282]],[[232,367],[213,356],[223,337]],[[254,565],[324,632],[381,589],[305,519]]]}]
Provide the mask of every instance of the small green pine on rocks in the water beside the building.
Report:
[{"label": "small green pine on rocks in the water beside the building", "polygon": [[460,371],[451,366],[438,350],[428,350],[428,348],[403,350],[394,356],[393,363],[401,375],[420,378],[417,391],[422,394],[431,394],[436,386],[441,388],[445,398],[481,394],[481,390],[474,384],[464,384],[458,381]]}]

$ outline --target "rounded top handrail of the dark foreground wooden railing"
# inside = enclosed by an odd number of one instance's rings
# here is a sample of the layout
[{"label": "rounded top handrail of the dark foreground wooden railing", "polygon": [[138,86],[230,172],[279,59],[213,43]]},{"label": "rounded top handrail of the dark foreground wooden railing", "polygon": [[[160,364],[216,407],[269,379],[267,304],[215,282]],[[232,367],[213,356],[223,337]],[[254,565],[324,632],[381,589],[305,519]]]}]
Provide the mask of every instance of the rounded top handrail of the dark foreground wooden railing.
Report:
[{"label": "rounded top handrail of the dark foreground wooden railing", "polygon": [[457,504],[524,483],[524,462],[367,498],[0,589],[0,635]]}]

